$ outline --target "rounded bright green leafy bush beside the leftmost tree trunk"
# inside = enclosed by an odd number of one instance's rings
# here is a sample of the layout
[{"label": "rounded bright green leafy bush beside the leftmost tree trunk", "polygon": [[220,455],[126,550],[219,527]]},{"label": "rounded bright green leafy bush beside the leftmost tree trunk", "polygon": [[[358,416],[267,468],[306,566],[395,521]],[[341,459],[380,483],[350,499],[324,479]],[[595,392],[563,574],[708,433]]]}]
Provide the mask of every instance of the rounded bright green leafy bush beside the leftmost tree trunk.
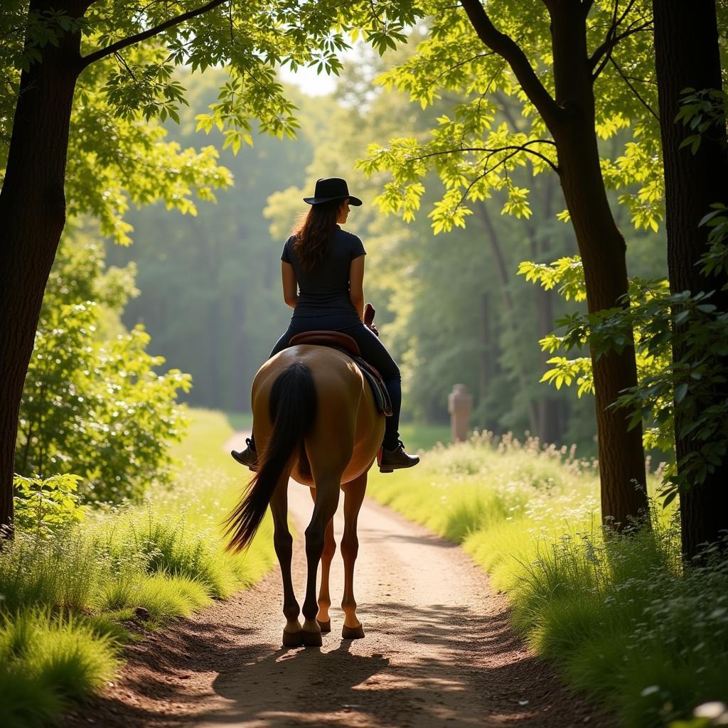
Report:
[{"label": "rounded bright green leafy bush beside the leftmost tree trunk", "polygon": [[74,473],[87,498],[119,501],[169,480],[169,445],[186,424],[175,399],[191,382],[178,369],[159,372],[164,359],[146,351],[143,326],[127,332],[115,323],[136,293],[134,268],[106,269],[102,250],[84,235],[68,240],[51,274],[23,392],[16,470]]}]

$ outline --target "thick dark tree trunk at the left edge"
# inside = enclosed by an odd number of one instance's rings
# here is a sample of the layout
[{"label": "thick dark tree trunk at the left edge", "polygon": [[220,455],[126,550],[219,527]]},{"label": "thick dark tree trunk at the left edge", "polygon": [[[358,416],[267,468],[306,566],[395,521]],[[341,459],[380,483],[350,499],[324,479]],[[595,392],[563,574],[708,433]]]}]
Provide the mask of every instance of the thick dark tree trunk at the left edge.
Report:
[{"label": "thick dark tree trunk at the left edge", "polygon": [[[70,3],[82,15],[87,3]],[[31,11],[51,7],[33,0]],[[0,526],[12,524],[12,474],[20,398],[33,351],[41,301],[66,222],[66,175],[71,101],[81,55],[79,33],[20,79],[20,93],[0,191]]]}]

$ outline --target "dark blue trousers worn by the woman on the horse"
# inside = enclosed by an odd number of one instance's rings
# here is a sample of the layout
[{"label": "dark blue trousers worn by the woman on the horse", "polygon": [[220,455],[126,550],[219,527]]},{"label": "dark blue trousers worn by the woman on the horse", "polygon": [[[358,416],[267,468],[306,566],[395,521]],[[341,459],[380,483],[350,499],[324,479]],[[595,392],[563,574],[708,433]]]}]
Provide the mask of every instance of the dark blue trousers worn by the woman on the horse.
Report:
[{"label": "dark blue trousers worn by the woman on the horse", "polygon": [[288,325],[288,331],[278,339],[271,356],[288,347],[288,342],[297,333],[304,331],[340,331],[351,336],[359,345],[363,359],[367,360],[384,379],[384,386],[392,400],[392,416],[385,418],[384,447],[394,450],[400,438],[400,408],[402,407],[402,377],[397,363],[389,355],[387,347],[379,341],[356,314],[325,314],[324,316],[294,316]]}]

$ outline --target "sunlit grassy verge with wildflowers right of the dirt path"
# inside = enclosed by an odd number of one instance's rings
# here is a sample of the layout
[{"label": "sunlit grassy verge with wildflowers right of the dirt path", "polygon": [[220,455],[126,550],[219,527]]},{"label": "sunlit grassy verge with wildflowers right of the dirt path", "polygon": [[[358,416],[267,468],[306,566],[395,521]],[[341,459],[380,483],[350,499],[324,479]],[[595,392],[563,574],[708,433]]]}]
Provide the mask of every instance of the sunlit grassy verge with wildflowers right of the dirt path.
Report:
[{"label": "sunlit grassy verge with wildflowers right of the dirt path", "polygon": [[728,564],[683,574],[674,508],[654,511],[652,532],[605,542],[593,462],[512,438],[435,448],[396,477],[373,472],[370,493],[462,543],[507,592],[529,644],[624,726],[728,702]]}]

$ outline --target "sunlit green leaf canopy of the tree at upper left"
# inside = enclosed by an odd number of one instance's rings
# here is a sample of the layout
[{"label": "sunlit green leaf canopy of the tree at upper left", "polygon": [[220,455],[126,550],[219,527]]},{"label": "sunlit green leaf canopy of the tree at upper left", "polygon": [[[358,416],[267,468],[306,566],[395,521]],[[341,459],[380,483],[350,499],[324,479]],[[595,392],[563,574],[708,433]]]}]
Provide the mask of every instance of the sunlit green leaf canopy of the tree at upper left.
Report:
[{"label": "sunlit green leaf canopy of the tree at upper left", "polygon": [[[165,202],[194,214],[194,198],[232,183],[212,146],[199,151],[165,143],[158,120],[178,120],[186,89],[173,74],[225,67],[229,79],[199,127],[224,131],[225,146],[252,143],[253,122],[270,134],[294,135],[293,103],[277,69],[312,66],[336,73],[347,34],[363,33],[384,52],[405,39],[416,19],[411,1],[96,0],[81,17],[64,10],[28,12],[25,0],[0,8],[0,170],[7,162],[20,72],[38,63],[47,45],[81,33],[85,70],[74,98],[66,197],[71,215],[90,214],[101,232],[130,242],[129,202]],[[25,39],[25,40],[24,40]],[[0,172],[0,183],[3,181]]]}]

